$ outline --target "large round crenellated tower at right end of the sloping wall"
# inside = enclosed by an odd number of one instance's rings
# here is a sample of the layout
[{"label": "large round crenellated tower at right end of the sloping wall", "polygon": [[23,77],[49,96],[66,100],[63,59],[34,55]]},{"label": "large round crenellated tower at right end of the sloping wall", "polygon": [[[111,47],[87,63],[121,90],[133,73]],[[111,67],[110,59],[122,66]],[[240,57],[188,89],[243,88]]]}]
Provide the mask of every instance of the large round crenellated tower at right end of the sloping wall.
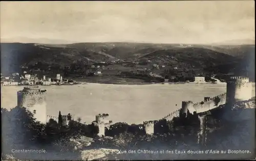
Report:
[{"label": "large round crenellated tower at right end of the sloping wall", "polygon": [[246,101],[252,97],[252,84],[247,77],[230,77],[227,82],[226,100],[228,104]]}]

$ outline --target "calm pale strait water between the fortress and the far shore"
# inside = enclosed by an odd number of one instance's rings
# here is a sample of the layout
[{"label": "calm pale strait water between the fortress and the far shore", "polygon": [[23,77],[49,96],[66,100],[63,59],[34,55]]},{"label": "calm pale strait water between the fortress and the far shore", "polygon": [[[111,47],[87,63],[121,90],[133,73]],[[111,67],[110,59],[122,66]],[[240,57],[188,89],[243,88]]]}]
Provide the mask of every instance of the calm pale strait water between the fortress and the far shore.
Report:
[{"label": "calm pale strait water between the fortress and the far shore", "polygon": [[[109,113],[114,122],[143,123],[158,120],[181,107],[181,101],[200,102],[226,92],[226,84],[84,84],[40,86],[47,89],[47,112],[58,116],[71,113],[81,122],[91,123],[98,113]],[[255,85],[252,91],[255,96]],[[16,92],[23,86],[3,86],[1,107],[17,105]],[[177,104],[177,106],[176,106]]]}]

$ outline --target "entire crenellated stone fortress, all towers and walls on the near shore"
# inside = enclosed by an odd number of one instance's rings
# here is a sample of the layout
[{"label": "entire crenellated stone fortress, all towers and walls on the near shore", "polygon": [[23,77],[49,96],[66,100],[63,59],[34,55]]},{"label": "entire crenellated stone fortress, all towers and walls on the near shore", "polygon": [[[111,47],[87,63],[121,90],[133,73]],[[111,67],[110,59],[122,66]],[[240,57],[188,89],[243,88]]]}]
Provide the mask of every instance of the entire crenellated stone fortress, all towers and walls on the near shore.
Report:
[{"label": "entire crenellated stone fortress, all towers and walls on the near shore", "polygon": [[[23,90],[17,92],[18,106],[26,107],[32,113],[37,121],[46,123],[49,119],[58,122],[58,117],[47,116],[46,114],[46,90],[41,90],[38,86],[24,87]],[[246,101],[252,97],[252,84],[246,77],[231,77],[227,82],[226,93],[210,98],[205,97],[203,101],[193,103],[193,101],[182,101],[181,109],[177,109],[162,119],[172,120],[175,117],[187,116],[190,113],[204,113],[211,109],[218,108],[220,105],[233,104],[236,101]],[[205,129],[204,122],[206,118],[199,115],[201,129]],[[92,122],[99,129],[98,135],[105,135],[105,127],[109,128],[113,124],[109,120],[109,114],[97,114],[95,121]],[[146,134],[154,134],[154,124],[156,122],[143,122],[144,131]],[[68,118],[66,115],[62,116],[62,124],[68,125]],[[204,132],[200,132],[200,137],[203,137]],[[204,138],[204,137],[203,137]],[[203,142],[200,140],[199,142]]]}]

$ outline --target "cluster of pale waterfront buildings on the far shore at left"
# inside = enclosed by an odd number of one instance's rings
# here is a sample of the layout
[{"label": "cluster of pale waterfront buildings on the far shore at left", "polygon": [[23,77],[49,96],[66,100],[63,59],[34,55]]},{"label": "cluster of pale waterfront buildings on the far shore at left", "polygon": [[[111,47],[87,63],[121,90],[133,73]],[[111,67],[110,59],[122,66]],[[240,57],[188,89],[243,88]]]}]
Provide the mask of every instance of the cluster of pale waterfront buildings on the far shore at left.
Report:
[{"label": "cluster of pale waterfront buildings on the far shore at left", "polygon": [[31,75],[27,72],[23,74],[13,73],[11,76],[2,76],[1,74],[1,85],[73,85],[77,82],[73,80],[63,79],[60,74],[56,74],[55,78],[47,78],[42,76],[39,78],[36,74]]}]

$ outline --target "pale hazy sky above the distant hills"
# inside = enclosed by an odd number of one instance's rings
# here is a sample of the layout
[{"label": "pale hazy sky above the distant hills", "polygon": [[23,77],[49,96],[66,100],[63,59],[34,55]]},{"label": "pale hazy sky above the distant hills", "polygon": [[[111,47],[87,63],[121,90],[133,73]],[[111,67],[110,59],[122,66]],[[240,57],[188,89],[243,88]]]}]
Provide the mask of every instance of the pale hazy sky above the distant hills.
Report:
[{"label": "pale hazy sky above the distant hills", "polygon": [[0,2],[1,41],[254,40],[254,1]]}]

